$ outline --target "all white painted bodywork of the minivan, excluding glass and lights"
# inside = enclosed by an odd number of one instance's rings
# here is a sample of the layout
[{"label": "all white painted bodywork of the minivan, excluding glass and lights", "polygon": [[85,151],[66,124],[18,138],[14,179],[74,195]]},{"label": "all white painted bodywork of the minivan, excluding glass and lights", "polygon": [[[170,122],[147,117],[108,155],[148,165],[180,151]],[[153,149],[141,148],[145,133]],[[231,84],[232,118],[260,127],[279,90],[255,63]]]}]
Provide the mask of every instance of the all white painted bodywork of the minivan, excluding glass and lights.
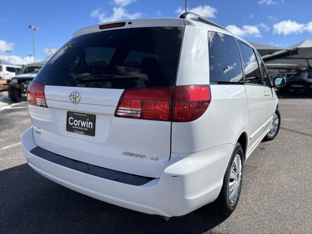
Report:
[{"label": "all white painted bodywork of the minivan, excluding glass and lights", "polygon": [[[210,83],[208,32],[230,32],[193,20],[125,22],[121,28],[185,27],[176,85],[210,85],[212,100],[207,111],[192,122],[115,117],[123,89],[45,85],[49,108],[29,105],[33,125],[21,136],[24,155],[39,174],[79,193],[147,214],[185,215],[218,197],[238,138],[246,138],[247,158],[268,132],[278,100],[273,88]],[[94,25],[78,30],[74,37],[105,30]],[[74,91],[81,96],[78,104],[69,98]],[[96,115],[95,136],[67,132],[68,111]],[[136,186],[73,170],[31,153],[38,146],[151,181]],[[125,156],[124,151],[158,160]]]}]

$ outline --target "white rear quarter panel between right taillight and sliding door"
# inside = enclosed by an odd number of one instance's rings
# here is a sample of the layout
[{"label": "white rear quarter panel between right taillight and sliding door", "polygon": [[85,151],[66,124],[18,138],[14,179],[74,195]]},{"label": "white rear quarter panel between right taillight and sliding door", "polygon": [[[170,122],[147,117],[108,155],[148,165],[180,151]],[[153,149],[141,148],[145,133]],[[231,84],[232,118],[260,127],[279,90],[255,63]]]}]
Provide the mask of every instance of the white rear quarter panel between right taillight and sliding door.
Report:
[{"label": "white rear quarter panel between right taillight and sliding door", "polygon": [[[172,123],[172,152],[199,152],[223,144],[235,145],[249,132],[248,103],[244,85],[211,85],[212,101],[199,119]],[[216,124],[217,123],[217,124]]]}]

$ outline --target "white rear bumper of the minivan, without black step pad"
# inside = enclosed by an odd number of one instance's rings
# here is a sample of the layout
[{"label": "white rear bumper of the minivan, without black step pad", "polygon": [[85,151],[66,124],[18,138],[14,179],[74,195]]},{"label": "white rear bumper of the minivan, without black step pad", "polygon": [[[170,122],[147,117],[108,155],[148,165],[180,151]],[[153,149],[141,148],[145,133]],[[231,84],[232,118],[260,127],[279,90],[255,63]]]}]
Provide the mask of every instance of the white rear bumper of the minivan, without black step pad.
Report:
[{"label": "white rear bumper of the minivan, without black step pad", "polygon": [[28,164],[40,175],[81,194],[128,208],[163,216],[188,214],[213,202],[221,189],[223,176],[234,149],[225,144],[193,154],[173,154],[160,176],[135,186],[79,172],[35,156],[33,128],[21,135]]}]

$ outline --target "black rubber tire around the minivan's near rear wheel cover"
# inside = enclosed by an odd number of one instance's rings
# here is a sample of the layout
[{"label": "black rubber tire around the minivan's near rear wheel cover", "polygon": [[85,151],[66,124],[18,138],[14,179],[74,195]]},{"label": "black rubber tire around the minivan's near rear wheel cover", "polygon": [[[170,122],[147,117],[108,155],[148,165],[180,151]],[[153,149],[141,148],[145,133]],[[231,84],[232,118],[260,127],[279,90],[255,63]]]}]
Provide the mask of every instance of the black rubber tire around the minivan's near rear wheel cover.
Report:
[{"label": "black rubber tire around the minivan's near rear wheel cover", "polygon": [[[230,201],[230,189],[229,189],[229,185],[230,185],[230,174],[231,174],[231,170],[232,170],[232,166],[233,166],[233,162],[235,159],[235,156],[239,155],[240,160],[241,160],[241,177],[239,180],[239,187],[238,187],[238,196],[234,201]],[[244,151],[243,148],[241,147],[240,143],[237,142],[235,147],[234,147],[234,151],[233,154],[231,156],[230,162],[228,164],[228,167],[226,169],[224,178],[223,178],[223,185],[220,191],[220,194],[218,196],[218,198],[215,201],[215,204],[217,205],[218,209],[220,210],[221,215],[224,216],[229,216],[231,215],[234,210],[236,209],[236,206],[238,204],[239,201],[239,197],[240,197],[240,191],[242,188],[242,179],[243,179],[243,168],[244,168]]]}]

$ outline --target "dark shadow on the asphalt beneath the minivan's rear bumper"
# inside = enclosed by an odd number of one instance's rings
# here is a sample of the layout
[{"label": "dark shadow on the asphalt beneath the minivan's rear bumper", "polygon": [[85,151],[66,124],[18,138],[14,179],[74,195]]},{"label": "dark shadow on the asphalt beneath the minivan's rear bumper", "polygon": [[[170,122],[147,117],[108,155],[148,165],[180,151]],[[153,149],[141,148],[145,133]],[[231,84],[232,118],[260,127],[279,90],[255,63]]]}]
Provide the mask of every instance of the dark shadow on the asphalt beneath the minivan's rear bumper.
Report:
[{"label": "dark shadow on the asphalt beneath the minivan's rear bumper", "polygon": [[27,164],[0,171],[1,233],[203,233],[222,223],[213,205],[165,222],[81,195]]}]

